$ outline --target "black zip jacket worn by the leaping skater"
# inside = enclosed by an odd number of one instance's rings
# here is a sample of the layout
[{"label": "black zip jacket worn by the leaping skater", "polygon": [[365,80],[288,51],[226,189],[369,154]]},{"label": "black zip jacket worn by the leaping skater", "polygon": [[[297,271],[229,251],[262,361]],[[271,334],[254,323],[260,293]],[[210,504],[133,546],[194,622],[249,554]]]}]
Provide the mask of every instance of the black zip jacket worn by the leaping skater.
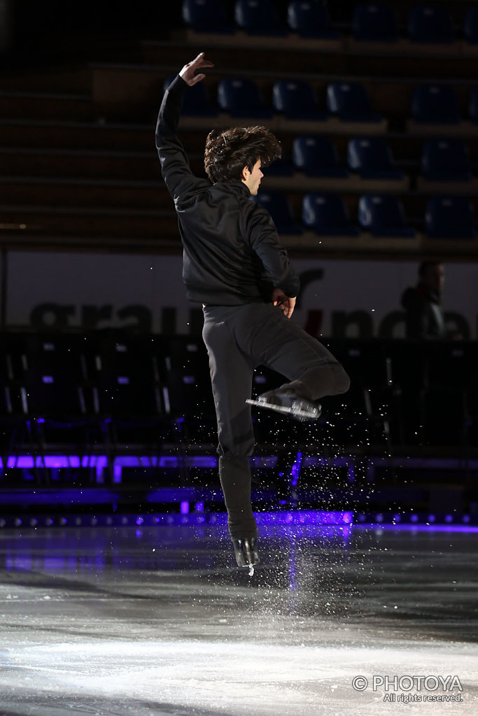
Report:
[{"label": "black zip jacket worn by the leaping skater", "polygon": [[188,299],[236,306],[269,301],[274,286],[287,296],[297,296],[299,279],[279,243],[272,218],[251,200],[247,186],[239,179],[211,184],[191,173],[176,137],[187,88],[178,75],[166,90],[156,147],[178,214]]}]

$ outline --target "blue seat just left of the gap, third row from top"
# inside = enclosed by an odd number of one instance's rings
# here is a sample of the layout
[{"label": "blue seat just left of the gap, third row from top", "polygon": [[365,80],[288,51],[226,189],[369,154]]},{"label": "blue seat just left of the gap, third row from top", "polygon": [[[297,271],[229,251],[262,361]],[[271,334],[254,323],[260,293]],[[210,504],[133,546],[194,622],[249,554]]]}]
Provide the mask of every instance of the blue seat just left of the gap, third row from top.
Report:
[{"label": "blue seat just left of the gap, third row from top", "polygon": [[363,179],[403,179],[393,165],[390,148],[379,137],[355,137],[348,142],[347,162]]}]

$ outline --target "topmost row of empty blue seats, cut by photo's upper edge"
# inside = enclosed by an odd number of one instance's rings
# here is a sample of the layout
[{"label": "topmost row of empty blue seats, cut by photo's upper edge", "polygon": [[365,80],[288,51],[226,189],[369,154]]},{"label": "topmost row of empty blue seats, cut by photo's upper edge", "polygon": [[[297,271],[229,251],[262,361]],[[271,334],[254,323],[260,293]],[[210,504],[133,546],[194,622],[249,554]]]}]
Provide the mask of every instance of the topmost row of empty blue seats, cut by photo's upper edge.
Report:
[{"label": "topmost row of empty blue seats, cut by photo's upper edge", "polygon": [[[287,23],[272,0],[237,0],[234,23],[220,0],[183,0],[183,21],[196,32],[233,33],[242,29],[251,35],[285,37],[297,32],[300,37],[338,39],[325,4],[318,0],[295,1],[287,6]],[[393,5],[377,2],[355,6],[351,32],[362,42],[396,42],[399,27]],[[449,9],[437,4],[421,4],[408,11],[406,32],[411,42],[451,44],[456,37]],[[478,7],[464,15],[462,32],[470,44],[478,43]]]}]

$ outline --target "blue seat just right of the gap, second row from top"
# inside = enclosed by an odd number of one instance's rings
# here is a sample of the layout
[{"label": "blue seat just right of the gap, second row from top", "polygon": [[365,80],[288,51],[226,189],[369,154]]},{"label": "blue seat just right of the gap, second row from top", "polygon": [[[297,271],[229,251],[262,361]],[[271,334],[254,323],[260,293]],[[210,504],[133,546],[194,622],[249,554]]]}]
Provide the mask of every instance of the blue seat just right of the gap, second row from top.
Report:
[{"label": "blue seat just right of the gap, second row from top", "polygon": [[456,125],[460,122],[457,95],[449,84],[419,84],[411,101],[416,122]]}]

